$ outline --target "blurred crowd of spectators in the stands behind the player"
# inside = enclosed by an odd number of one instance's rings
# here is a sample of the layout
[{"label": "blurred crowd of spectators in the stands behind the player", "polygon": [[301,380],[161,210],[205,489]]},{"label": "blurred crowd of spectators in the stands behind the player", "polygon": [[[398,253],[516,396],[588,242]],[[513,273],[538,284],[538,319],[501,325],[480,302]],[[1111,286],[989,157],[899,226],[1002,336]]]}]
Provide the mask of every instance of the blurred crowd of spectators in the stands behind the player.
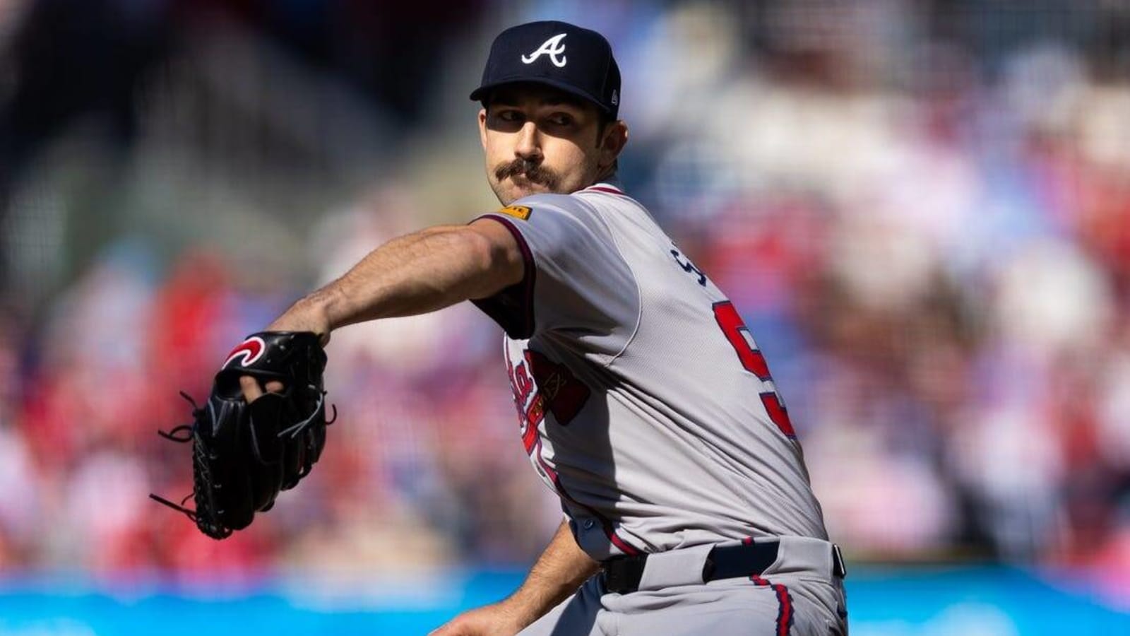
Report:
[{"label": "blurred crowd of spectators in the stands behind the player", "polygon": [[349,327],[323,461],[215,542],[156,435],[383,241],[496,207],[494,35],[624,75],[627,191],[766,352],[853,562],[1130,607],[1130,3],[0,1],[0,571],[529,562],[559,519],[472,307]]}]

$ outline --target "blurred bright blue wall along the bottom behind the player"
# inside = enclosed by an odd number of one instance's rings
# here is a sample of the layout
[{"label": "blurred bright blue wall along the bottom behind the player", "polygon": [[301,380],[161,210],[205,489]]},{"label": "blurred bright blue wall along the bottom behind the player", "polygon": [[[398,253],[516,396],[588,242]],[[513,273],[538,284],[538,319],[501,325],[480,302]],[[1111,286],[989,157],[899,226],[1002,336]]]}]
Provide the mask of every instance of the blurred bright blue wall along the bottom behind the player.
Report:
[{"label": "blurred bright blue wall along the bottom behind the player", "polygon": [[[426,634],[455,612],[504,596],[521,573],[469,573],[364,585],[312,581],[173,591],[138,581],[9,579],[0,634],[215,636]],[[1130,614],[1007,568],[886,570],[847,578],[853,636],[1130,634]],[[660,635],[657,635],[660,636]]]}]

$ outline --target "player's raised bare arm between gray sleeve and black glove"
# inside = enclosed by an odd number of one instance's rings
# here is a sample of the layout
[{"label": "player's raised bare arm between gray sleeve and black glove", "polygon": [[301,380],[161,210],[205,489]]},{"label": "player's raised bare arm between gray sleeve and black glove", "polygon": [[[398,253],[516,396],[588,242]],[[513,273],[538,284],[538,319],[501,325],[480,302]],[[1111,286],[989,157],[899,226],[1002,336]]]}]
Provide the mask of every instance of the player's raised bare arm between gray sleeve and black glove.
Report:
[{"label": "player's raised bare arm between gray sleeve and black glove", "polygon": [[[497,227],[495,227],[497,226]],[[485,298],[521,280],[522,263],[495,222],[429,227],[393,239],[296,302],[271,328],[327,333]],[[502,230],[504,232],[504,230]]]}]

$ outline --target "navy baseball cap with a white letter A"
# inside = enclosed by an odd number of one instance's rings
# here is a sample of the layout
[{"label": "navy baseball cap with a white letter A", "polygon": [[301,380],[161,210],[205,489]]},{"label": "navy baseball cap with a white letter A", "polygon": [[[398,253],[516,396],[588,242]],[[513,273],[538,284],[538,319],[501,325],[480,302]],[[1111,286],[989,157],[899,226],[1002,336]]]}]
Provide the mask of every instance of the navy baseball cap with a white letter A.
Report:
[{"label": "navy baseball cap with a white letter A", "polygon": [[486,103],[506,84],[545,84],[588,100],[616,119],[620,108],[620,68],[612,46],[596,31],[548,20],[507,28],[495,37],[471,100]]}]

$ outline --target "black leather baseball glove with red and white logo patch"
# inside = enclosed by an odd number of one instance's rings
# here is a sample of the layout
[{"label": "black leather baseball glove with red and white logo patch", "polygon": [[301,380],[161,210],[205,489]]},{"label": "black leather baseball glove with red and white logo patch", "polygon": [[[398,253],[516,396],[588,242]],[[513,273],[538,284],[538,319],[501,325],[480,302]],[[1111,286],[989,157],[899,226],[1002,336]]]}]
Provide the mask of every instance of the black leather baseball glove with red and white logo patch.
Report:
[{"label": "black leather baseball glove with red and white logo patch", "polygon": [[[275,505],[280,490],[294,488],[310,473],[325,446],[325,353],[311,332],[260,332],[232,350],[216,373],[203,407],[192,403],[191,424],[157,431],[167,439],[192,442],[192,493],[176,505],[200,532],[225,539],[246,527],[257,512]],[[240,377],[271,380],[281,392],[264,393],[251,404]],[[266,390],[266,389],[264,389]],[[334,410],[334,418],[337,411]],[[195,509],[184,507],[189,498]]]}]

